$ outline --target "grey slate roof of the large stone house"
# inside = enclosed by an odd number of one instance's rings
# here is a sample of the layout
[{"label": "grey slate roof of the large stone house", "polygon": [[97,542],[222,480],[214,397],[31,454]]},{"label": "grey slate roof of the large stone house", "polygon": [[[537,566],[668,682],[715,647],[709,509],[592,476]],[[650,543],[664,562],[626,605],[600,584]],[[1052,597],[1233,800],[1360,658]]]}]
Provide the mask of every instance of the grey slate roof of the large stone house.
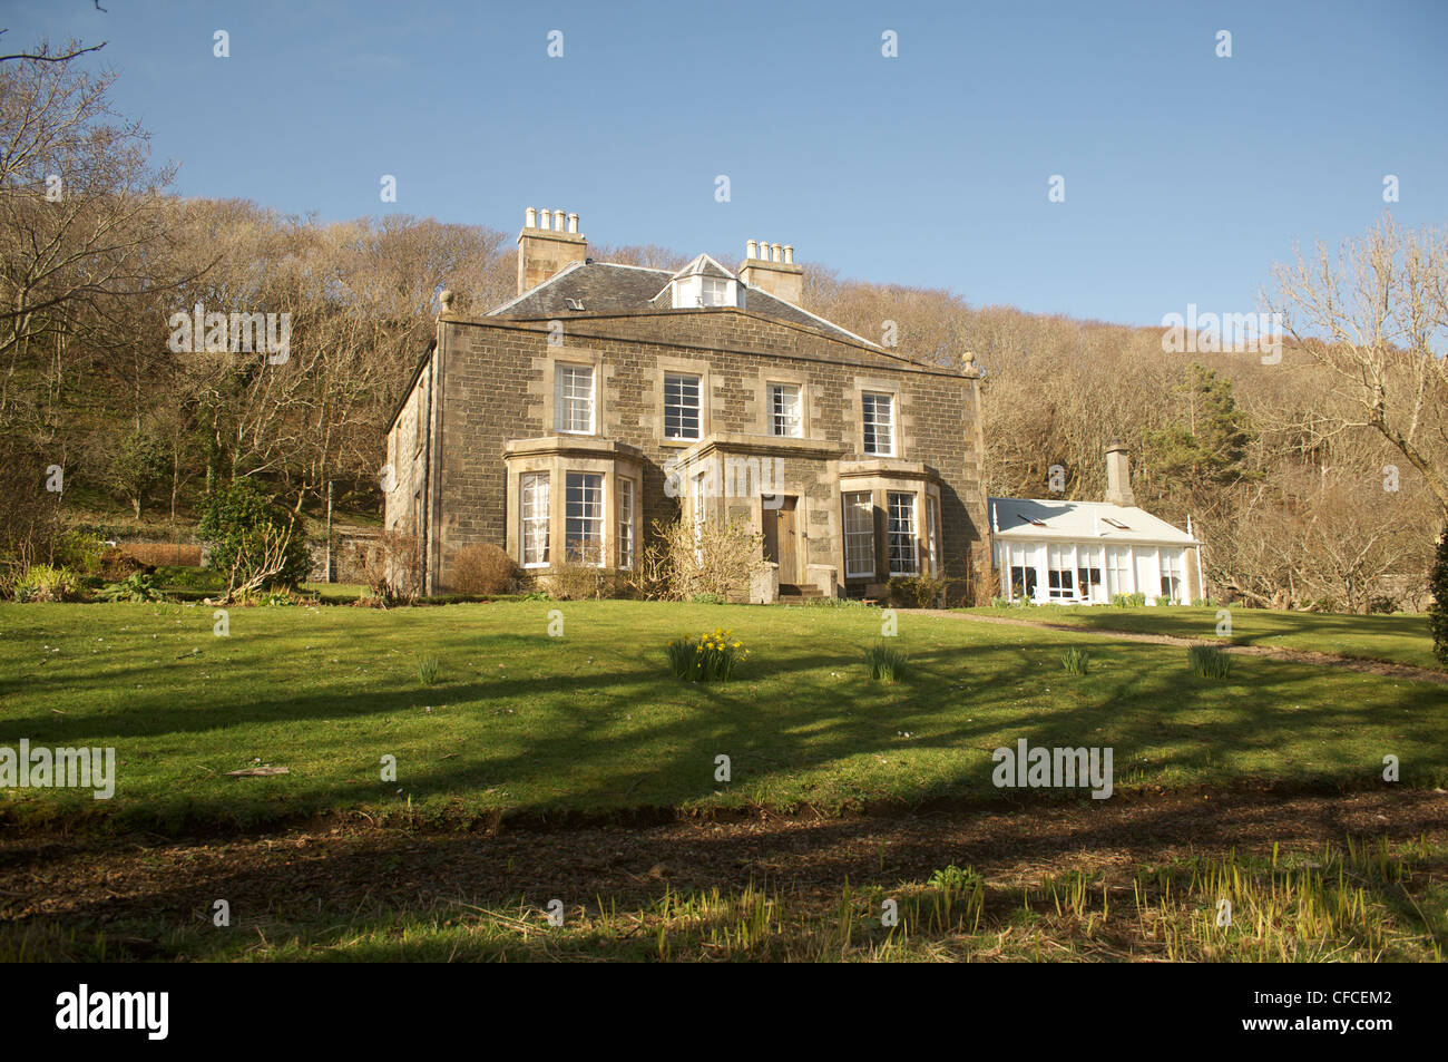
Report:
[{"label": "grey slate roof of the large stone house", "polygon": [[[701,262],[707,259],[707,262]],[[718,267],[708,255],[699,255],[692,262],[689,262],[683,269],[695,269],[704,272],[704,275],[725,275],[731,277],[727,271],[721,274],[712,272],[712,267]],[[576,316],[579,313],[628,313],[640,310],[657,310],[659,306],[653,301],[659,290],[675,275],[686,275],[683,271],[675,274],[672,269],[649,269],[640,265],[618,265],[615,262],[575,262],[572,265],[559,269],[549,280],[524,291],[517,298],[513,298],[502,306],[488,312],[489,317],[517,317],[520,320],[534,320],[534,319],[553,319],[553,317],[568,317]],[[805,309],[795,306],[794,303],[786,303],[783,298],[775,298],[772,294],[763,288],[753,287],[752,284],[744,284],[740,281],[740,287],[744,288],[744,310],[747,313],[757,313],[763,317],[773,317],[775,320],[788,322],[791,325],[802,325],[804,327],[822,332],[827,336],[835,339],[843,339],[851,343],[860,343],[873,351],[882,351],[892,356],[899,356],[892,351],[883,351],[879,343],[872,343],[863,336],[857,336],[847,329],[834,325],[824,317],[817,317]],[[582,310],[575,310],[569,306],[569,300],[575,300],[582,304]],[[686,313],[681,310],[681,313]],[[901,358],[901,361],[909,361],[908,358]]]}]

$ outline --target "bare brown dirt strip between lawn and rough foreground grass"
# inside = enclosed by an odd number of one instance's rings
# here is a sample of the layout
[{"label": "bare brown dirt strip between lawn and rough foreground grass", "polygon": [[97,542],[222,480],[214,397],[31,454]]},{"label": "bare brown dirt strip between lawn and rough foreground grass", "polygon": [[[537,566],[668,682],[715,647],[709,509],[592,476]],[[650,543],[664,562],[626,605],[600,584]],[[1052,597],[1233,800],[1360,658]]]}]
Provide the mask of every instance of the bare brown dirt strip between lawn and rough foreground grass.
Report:
[{"label": "bare brown dirt strip between lawn and rough foreground grass", "polygon": [[1341,845],[1348,837],[1448,840],[1442,790],[1274,797],[1160,794],[1003,810],[847,819],[675,821],[553,833],[405,833],[333,827],[233,842],[132,836],[0,840],[0,921],[193,924],[217,898],[266,917],[427,910],[518,898],[592,907],[641,904],[670,890],[769,888],[837,894],[895,887],[948,864],[999,884],[1067,869],[1129,871],[1187,855]]}]

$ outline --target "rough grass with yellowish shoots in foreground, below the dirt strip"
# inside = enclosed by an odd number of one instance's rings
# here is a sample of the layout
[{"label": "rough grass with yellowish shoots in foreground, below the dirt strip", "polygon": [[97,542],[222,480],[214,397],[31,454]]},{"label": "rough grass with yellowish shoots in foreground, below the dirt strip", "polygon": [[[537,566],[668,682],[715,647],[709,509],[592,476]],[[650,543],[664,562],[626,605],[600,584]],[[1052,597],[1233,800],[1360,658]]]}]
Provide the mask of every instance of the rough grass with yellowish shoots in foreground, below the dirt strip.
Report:
[{"label": "rough grass with yellowish shoots in foreground, below the dirt strip", "polygon": [[[946,866],[928,879],[833,892],[747,882],[591,898],[462,900],[397,907],[275,904],[206,919],[0,923],[14,961],[1176,961],[1442,962],[1448,848],[1426,839],[1263,855],[1195,856],[1121,871],[992,879]],[[138,952],[138,942],[143,950]]]}]

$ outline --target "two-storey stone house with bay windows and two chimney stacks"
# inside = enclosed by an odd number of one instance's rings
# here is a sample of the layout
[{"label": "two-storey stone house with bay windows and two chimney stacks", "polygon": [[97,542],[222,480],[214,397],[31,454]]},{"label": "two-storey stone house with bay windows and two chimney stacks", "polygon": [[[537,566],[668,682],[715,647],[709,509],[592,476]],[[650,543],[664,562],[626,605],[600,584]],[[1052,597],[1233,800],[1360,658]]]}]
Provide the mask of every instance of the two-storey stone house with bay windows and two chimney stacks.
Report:
[{"label": "two-storey stone house with bay windows and two chimney stacks", "polygon": [[[794,248],[730,271],[595,262],[578,216],[526,212],[517,297],[452,312],[387,436],[388,529],[426,593],[491,542],[527,572],[633,568],[656,523],[740,517],[750,598],[883,594],[989,556],[980,375],[917,361],[801,306]],[[883,327],[883,322],[882,322]]]}]

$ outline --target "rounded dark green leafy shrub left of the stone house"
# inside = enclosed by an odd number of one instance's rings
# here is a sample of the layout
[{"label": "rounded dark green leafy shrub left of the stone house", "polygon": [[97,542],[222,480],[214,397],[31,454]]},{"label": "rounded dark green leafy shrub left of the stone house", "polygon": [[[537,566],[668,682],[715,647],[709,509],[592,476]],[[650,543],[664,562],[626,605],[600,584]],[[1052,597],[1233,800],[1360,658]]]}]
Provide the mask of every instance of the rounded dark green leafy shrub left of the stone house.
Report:
[{"label": "rounded dark green leafy shrub left of the stone house", "polygon": [[226,572],[226,598],[307,578],[311,555],[295,519],[251,480],[233,480],[206,498],[197,535],[211,548],[207,566]]}]

